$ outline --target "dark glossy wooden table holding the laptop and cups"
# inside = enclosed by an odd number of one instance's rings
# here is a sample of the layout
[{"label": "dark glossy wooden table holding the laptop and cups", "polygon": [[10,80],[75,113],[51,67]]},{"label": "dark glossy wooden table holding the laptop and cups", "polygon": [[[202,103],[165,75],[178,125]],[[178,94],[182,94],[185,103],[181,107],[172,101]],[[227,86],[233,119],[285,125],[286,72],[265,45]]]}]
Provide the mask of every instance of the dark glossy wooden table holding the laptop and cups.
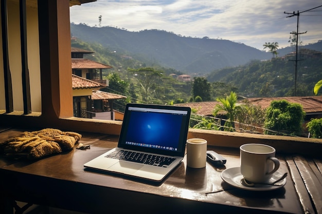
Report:
[{"label": "dark glossy wooden table holding the laptop and cups", "polygon": [[[2,130],[0,142],[21,132]],[[191,169],[184,159],[163,183],[151,185],[84,170],[84,163],[115,147],[118,137],[81,134],[80,143],[91,149],[74,148],[37,161],[0,158],[0,213],[12,213],[13,200],[88,213],[322,213],[321,160],[278,154],[279,171],[289,172],[285,186],[247,191],[221,179],[224,169],[239,166],[239,149],[208,147],[227,159],[225,166]]]}]

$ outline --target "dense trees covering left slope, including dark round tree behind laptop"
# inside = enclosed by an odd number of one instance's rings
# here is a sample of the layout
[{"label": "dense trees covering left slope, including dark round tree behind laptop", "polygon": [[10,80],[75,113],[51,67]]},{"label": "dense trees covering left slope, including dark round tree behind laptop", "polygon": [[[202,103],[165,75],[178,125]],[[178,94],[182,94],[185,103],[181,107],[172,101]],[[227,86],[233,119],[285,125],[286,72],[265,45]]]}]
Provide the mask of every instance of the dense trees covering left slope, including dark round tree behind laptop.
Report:
[{"label": "dense trees covering left slope, including dark round tree behind laptop", "polygon": [[[224,83],[209,83],[204,77],[195,77],[193,82],[178,81],[170,74],[181,75],[180,71],[164,68],[157,64],[147,67],[135,56],[118,53],[100,44],[90,44],[73,40],[71,46],[90,50],[94,54],[84,54],[84,58],[113,66],[103,70],[103,78],[109,79],[107,92],[125,95],[126,102],[176,104],[196,101],[213,101],[218,96],[228,94],[235,87]],[[194,85],[195,84],[195,85]],[[115,101],[120,108],[124,101]]]}]

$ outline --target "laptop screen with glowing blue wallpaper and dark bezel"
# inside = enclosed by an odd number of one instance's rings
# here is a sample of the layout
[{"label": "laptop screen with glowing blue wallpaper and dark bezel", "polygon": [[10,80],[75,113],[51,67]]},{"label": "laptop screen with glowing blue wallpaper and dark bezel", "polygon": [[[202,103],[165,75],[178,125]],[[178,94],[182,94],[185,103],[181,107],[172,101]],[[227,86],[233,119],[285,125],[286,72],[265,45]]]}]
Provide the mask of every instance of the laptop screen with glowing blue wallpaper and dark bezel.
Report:
[{"label": "laptop screen with glowing blue wallpaper and dark bezel", "polygon": [[189,119],[188,107],[128,104],[118,146],[183,156]]}]

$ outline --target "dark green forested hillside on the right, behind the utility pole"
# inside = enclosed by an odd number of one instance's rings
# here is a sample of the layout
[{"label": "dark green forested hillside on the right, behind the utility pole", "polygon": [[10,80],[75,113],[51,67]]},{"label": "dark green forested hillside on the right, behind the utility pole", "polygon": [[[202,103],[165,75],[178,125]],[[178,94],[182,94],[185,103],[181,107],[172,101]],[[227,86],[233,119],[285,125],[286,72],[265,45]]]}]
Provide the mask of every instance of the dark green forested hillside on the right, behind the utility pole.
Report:
[{"label": "dark green forested hillside on the right, behind the utility pole", "polygon": [[[291,57],[271,61],[252,61],[244,66],[225,68],[207,76],[209,82],[226,83],[247,97],[294,96],[295,66]],[[317,80],[322,79],[322,56],[307,55],[298,62],[296,96],[312,96]]]}]

